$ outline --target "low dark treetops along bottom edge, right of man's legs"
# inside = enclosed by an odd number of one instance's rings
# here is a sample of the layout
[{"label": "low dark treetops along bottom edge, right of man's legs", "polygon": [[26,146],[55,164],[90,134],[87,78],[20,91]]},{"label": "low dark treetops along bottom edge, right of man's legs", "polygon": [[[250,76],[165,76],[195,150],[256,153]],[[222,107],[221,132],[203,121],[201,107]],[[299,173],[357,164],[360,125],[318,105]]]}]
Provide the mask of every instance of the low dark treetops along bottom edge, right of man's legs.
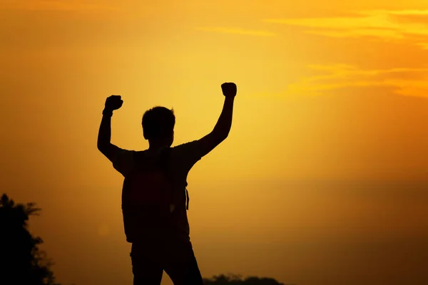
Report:
[{"label": "low dark treetops along bottom edge, right of man's legs", "polygon": [[205,285],[286,285],[272,278],[250,276],[243,279],[241,275],[220,274],[210,279],[203,279]]}]

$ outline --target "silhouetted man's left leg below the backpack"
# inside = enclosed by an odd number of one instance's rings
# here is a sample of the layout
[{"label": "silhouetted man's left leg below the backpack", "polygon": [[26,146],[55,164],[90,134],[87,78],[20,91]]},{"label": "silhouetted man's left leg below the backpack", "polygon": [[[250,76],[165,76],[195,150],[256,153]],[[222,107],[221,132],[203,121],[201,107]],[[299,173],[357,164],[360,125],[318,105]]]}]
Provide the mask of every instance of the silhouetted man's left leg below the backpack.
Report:
[{"label": "silhouetted man's left leg below the backpack", "polygon": [[161,285],[163,266],[160,253],[150,245],[132,245],[133,285]]}]

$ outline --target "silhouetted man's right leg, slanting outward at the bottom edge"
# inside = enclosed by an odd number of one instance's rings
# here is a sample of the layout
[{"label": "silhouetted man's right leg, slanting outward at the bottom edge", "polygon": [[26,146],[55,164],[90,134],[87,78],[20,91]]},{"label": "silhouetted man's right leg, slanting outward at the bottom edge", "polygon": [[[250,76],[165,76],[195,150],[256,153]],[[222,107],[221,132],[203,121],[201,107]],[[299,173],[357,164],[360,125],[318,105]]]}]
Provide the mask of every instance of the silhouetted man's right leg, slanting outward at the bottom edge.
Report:
[{"label": "silhouetted man's right leg, slanting outward at the bottom edge", "polygon": [[190,242],[173,242],[166,255],[165,272],[174,285],[203,285]]}]

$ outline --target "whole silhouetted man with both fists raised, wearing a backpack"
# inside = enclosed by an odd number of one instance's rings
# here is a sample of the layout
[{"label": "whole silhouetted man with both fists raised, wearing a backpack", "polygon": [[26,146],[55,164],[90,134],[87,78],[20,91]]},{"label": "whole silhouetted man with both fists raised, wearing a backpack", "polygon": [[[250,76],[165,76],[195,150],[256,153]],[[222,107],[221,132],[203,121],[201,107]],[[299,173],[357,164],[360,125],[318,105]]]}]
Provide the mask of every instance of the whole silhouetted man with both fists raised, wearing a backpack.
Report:
[{"label": "whole silhouetted man with both fists raised, wearing a backpack", "polygon": [[[121,108],[120,95],[106,99],[98,133],[98,150],[125,177],[123,224],[132,243],[134,285],[159,285],[163,271],[175,285],[202,285],[193,254],[186,209],[187,175],[198,160],[228,137],[232,125],[235,83],[221,86],[225,102],[213,131],[200,140],[170,147],[174,140],[173,110],[155,107],[143,115],[148,150],[123,150],[111,140],[111,116]],[[186,204],[187,202],[187,204]]]}]

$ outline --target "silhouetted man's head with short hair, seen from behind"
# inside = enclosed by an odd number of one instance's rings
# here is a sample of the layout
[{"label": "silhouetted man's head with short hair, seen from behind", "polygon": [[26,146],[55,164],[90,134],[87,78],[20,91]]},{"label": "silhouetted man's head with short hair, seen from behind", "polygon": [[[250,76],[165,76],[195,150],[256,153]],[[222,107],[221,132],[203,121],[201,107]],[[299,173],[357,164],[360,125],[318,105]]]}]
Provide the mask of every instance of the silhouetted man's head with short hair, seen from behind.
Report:
[{"label": "silhouetted man's head with short hair, seen from behind", "polygon": [[146,110],[141,124],[146,140],[168,138],[174,130],[174,110],[161,106]]}]

